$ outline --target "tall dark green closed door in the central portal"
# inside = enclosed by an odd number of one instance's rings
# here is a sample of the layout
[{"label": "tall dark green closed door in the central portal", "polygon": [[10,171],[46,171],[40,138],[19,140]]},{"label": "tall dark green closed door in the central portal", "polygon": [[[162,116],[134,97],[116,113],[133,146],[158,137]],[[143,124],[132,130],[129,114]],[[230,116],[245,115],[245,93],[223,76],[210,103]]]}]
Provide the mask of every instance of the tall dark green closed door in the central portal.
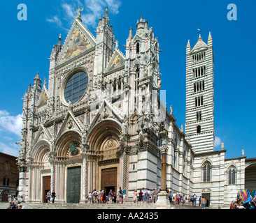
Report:
[{"label": "tall dark green closed door in the central portal", "polygon": [[80,202],[80,185],[81,185],[81,167],[68,168],[68,178],[66,182],[66,202]]}]

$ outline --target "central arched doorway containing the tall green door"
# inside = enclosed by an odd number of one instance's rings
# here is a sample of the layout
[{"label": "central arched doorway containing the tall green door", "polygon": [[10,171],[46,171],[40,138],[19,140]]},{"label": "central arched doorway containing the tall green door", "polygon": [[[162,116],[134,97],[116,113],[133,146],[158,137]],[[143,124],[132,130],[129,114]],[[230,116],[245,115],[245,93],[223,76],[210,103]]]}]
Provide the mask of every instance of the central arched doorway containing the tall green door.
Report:
[{"label": "central arched doorway containing the tall green door", "polygon": [[57,200],[79,203],[82,199],[81,136],[76,130],[69,130],[57,139],[55,157],[55,191]]}]

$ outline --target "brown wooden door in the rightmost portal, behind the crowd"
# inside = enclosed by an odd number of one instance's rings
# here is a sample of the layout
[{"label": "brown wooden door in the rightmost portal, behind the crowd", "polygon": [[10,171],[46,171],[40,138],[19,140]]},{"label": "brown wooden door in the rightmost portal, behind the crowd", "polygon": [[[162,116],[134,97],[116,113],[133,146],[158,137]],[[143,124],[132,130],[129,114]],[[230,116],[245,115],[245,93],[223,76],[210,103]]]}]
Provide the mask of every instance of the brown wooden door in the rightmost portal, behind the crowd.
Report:
[{"label": "brown wooden door in the rightmost portal, behind the crowd", "polygon": [[118,178],[118,168],[108,168],[101,170],[101,190],[109,190],[113,188],[116,192],[117,190],[117,178]]}]

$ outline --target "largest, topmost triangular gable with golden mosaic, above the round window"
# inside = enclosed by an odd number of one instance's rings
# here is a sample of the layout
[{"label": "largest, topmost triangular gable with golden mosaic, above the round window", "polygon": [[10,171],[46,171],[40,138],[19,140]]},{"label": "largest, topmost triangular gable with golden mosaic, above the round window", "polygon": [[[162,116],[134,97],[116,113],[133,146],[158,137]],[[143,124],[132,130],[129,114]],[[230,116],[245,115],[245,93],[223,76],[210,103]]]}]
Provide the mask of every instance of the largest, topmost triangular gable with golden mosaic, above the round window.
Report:
[{"label": "largest, topmost triangular gable with golden mosaic, above the round window", "polygon": [[66,37],[62,52],[59,54],[57,64],[68,61],[94,45],[96,45],[96,39],[92,33],[88,31],[82,22],[75,19],[73,26]]}]

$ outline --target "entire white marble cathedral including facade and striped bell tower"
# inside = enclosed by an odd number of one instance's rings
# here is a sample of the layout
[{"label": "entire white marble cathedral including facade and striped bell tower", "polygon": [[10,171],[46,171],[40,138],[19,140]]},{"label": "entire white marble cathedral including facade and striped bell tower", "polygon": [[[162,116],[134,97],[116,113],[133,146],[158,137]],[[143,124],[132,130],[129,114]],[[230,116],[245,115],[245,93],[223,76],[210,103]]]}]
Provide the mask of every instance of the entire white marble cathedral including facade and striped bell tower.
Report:
[{"label": "entire white marble cathedral including facade and striped bell tower", "polygon": [[[246,157],[214,151],[213,40],[187,44],[186,124],[160,100],[159,43],[143,17],[123,54],[108,8],[97,36],[81,12],[52,48],[48,86],[39,74],[24,94],[19,193],[26,202],[85,203],[92,190],[142,187],[203,194],[223,206],[244,188]],[[162,164],[166,171],[162,183]]]}]

